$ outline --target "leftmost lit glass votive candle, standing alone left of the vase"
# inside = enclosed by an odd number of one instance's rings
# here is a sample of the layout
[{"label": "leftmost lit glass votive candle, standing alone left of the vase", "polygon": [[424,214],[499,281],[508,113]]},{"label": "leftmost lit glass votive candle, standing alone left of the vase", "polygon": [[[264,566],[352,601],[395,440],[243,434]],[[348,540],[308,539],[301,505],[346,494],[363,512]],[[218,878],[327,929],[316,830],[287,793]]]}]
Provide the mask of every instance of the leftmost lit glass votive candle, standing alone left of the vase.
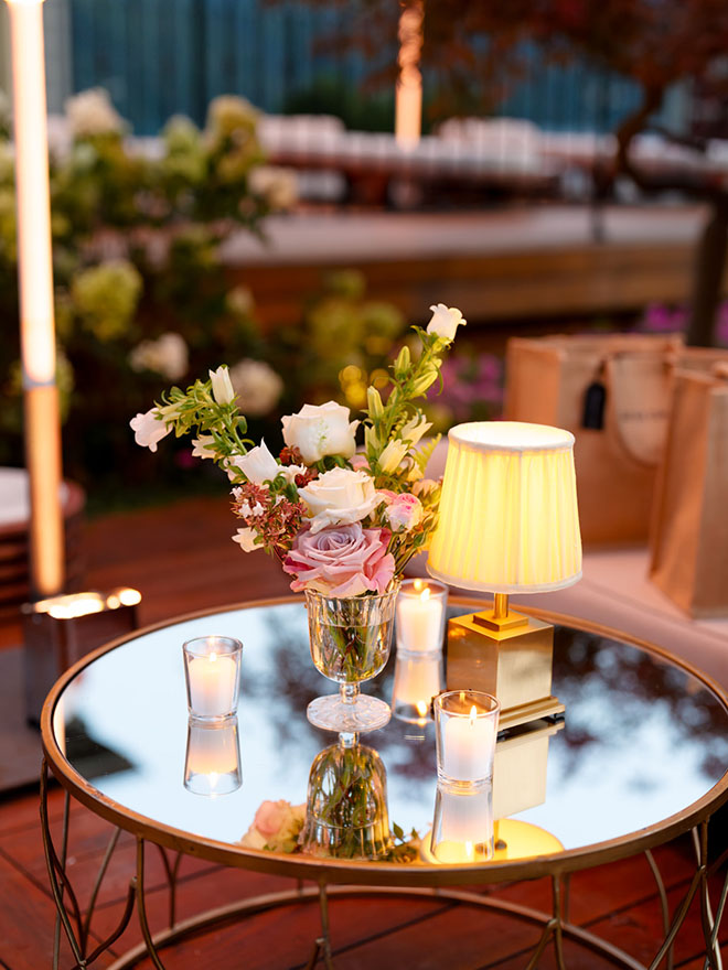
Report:
[{"label": "leftmost lit glass votive candle, standing alone left of the vase", "polygon": [[237,711],[243,644],[233,637],[195,637],[183,645],[188,711],[197,720]]}]

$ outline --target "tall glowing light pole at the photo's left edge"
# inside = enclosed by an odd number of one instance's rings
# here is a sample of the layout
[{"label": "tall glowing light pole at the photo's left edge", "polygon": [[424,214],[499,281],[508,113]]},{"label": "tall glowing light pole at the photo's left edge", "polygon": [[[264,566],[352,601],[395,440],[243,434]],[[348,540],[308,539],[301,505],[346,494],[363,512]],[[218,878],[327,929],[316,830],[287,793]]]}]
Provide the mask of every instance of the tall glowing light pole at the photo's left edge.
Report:
[{"label": "tall glowing light pole at the photo's left edge", "polygon": [[49,596],[61,592],[64,584],[64,532],[43,0],[7,2],[12,50],[25,464],[31,499],[31,586],[34,596]]}]

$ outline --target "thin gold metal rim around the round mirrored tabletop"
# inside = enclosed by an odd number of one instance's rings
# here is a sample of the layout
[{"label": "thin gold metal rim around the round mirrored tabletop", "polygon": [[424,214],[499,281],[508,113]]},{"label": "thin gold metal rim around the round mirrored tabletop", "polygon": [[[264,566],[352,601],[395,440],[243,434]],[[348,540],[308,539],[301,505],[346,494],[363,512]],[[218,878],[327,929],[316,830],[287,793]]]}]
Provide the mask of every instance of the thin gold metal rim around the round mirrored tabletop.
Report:
[{"label": "thin gold metal rim around the round mirrored tabletop", "polygon": [[[459,606],[473,606],[474,608],[482,608],[484,602],[486,601],[477,600],[470,596],[459,595],[450,597],[450,603]],[[156,842],[164,848],[200,859],[206,859],[211,862],[222,863],[232,867],[248,869],[256,872],[265,872],[292,879],[314,880],[319,883],[347,885],[445,886],[478,883],[488,884],[524,879],[539,879],[545,875],[558,875],[582,869],[590,869],[595,865],[601,865],[618,859],[635,855],[639,852],[668,842],[676,836],[689,831],[699,822],[708,819],[717,808],[728,801],[728,770],[726,770],[722,777],[719,778],[718,782],[705,793],[705,795],[679,812],[675,812],[674,815],[661,819],[643,829],[619,836],[615,839],[609,839],[604,842],[596,842],[590,845],[582,845],[578,849],[564,850],[549,855],[451,865],[433,865],[419,862],[403,864],[367,862],[363,860],[329,860],[314,859],[300,854],[286,855],[285,853],[246,849],[239,844],[195,836],[192,832],[186,832],[172,826],[165,826],[162,822],[152,820],[139,812],[135,812],[131,809],[119,805],[114,799],[103,795],[66,761],[55,740],[53,732],[53,714],[66,686],[85,667],[88,667],[105,654],[124,646],[124,644],[157,629],[164,629],[165,627],[175,626],[180,623],[185,623],[190,619],[196,619],[203,616],[239,610],[279,606],[287,603],[302,604],[302,599],[300,596],[267,597],[186,613],[142,627],[131,634],[117,637],[108,644],[104,644],[96,650],[93,650],[90,654],[87,654],[85,657],[82,657],[81,660],[74,664],[73,667],[69,667],[68,670],[56,680],[45,699],[41,713],[41,741],[43,752],[56,780],[77,801],[90,811],[113,824],[118,826],[120,829],[131,832],[147,841]],[[575,616],[524,607],[521,604],[518,605],[518,611],[558,626],[566,626],[584,633],[593,633],[610,639],[615,639],[656,656],[657,658],[681,668],[684,672],[698,680],[714,694],[728,714],[728,694],[717,681],[709,677],[709,675],[704,673],[702,670],[694,667],[692,664],[688,664],[686,660],[675,657],[663,647],[659,647],[612,627]]]}]

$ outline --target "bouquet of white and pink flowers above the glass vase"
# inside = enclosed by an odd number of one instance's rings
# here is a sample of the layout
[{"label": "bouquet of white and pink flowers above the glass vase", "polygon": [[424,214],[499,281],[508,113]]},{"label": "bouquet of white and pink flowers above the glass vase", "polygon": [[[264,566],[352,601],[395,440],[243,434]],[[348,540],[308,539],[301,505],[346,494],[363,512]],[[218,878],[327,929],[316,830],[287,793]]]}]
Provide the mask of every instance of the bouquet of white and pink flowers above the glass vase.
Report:
[{"label": "bouquet of white and pink flowers above the glass vase", "polygon": [[[442,355],[464,324],[438,304],[426,330],[413,330],[420,353],[403,346],[390,366],[386,401],[370,386],[361,421],[328,401],[282,418],[285,448],[247,439],[227,367],[131,420],[138,444],[157,451],[171,432],[194,434],[193,454],[214,461],[233,484],[233,537],[247,552],[265,549],[292,576],[291,589],[350,597],[385,592],[408,560],[427,547],[437,524],[440,485],[425,478],[438,438],[419,399],[440,378]],[[356,432],[363,425],[363,450]]]}]

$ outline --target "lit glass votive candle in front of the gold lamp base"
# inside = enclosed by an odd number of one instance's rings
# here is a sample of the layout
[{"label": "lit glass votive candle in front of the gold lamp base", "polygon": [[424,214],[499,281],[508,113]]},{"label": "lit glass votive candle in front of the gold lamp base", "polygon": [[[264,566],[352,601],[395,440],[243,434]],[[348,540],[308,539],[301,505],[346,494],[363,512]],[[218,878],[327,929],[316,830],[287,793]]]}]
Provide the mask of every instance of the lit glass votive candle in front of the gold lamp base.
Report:
[{"label": "lit glass votive candle in front of the gold lamp base", "polygon": [[499,701],[480,690],[448,690],[435,698],[438,782],[472,787],[493,777]]}]

